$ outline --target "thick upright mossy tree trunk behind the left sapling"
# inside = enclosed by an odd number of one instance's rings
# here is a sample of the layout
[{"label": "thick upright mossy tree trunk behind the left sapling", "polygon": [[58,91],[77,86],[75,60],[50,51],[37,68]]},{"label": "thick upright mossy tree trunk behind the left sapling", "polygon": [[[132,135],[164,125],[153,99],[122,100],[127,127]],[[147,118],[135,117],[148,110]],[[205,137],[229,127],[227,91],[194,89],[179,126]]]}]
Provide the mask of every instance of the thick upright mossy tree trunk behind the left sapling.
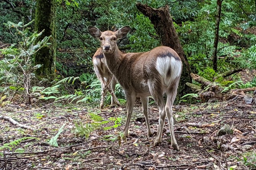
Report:
[{"label": "thick upright mossy tree trunk behind the left sapling", "polygon": [[35,31],[43,34],[38,38],[42,40],[45,36],[50,38],[50,45],[39,50],[35,55],[35,64],[42,64],[38,69],[39,74],[54,74],[56,60],[56,0],[37,0]]}]

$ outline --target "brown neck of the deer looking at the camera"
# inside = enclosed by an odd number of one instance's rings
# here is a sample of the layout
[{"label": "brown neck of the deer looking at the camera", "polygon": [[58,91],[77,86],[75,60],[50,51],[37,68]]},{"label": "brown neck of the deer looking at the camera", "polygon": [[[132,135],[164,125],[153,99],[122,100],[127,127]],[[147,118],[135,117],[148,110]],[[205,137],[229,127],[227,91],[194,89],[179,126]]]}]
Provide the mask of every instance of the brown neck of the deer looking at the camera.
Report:
[{"label": "brown neck of the deer looking at the camera", "polygon": [[112,54],[104,53],[106,65],[113,75],[118,74],[118,69],[123,61],[123,53],[116,47]]}]

